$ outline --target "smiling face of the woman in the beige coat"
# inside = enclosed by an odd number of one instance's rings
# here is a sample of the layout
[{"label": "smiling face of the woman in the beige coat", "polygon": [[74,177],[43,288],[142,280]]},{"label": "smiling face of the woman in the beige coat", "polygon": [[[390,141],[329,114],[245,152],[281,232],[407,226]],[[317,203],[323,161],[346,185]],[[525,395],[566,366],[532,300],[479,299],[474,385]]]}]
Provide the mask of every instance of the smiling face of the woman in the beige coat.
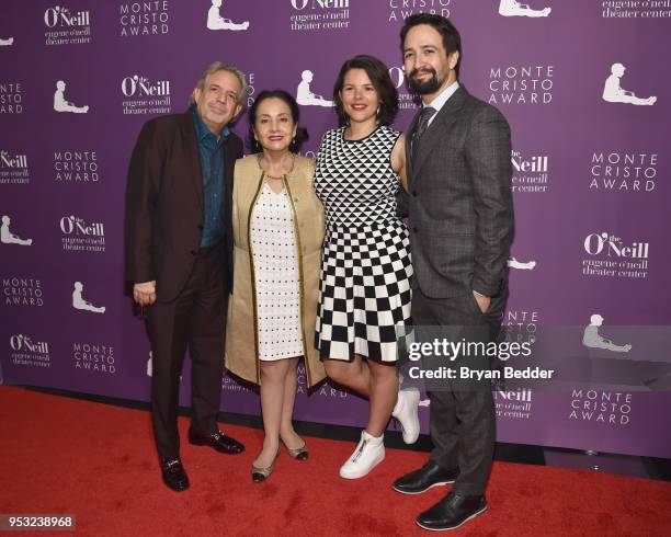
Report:
[{"label": "smiling face of the woman in the beige coat", "polygon": [[282,99],[269,98],[258,104],[254,138],[264,151],[288,151],[297,127],[292,108]]}]

